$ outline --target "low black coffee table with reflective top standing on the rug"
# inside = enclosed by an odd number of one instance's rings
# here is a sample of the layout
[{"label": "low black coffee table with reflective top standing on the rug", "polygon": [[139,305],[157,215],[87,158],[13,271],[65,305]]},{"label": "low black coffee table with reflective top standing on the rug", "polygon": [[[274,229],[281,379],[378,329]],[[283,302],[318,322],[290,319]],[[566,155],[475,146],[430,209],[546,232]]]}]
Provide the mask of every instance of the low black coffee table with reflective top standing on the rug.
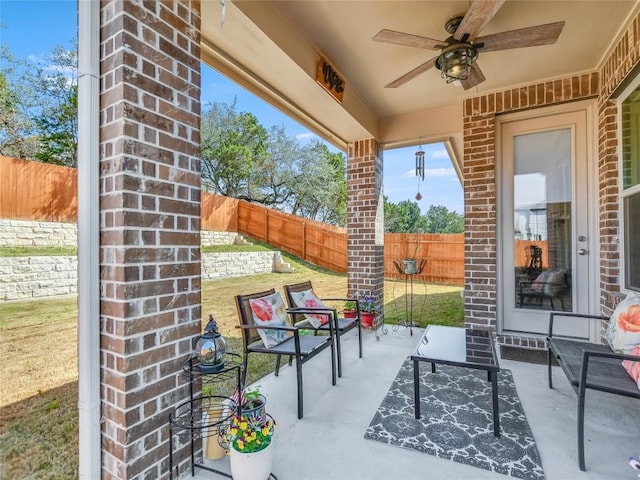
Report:
[{"label": "low black coffee table with reflective top standing on the rug", "polygon": [[486,370],[493,396],[493,434],[500,436],[498,412],[498,356],[493,336],[485,330],[429,325],[411,355],[413,361],[413,391],[416,418],[420,418],[420,362]]}]

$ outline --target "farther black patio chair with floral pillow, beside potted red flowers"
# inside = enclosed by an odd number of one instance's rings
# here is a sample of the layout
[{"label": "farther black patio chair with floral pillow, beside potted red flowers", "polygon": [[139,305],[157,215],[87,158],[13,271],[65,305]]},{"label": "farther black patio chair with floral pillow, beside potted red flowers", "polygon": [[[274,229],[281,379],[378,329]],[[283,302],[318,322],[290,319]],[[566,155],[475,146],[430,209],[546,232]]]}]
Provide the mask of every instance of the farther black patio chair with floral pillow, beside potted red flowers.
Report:
[{"label": "farther black patio chair with floral pillow, beside potted red flowers", "polygon": [[[284,285],[284,291],[287,297],[287,303],[289,304],[289,311],[295,312],[294,315],[297,317],[297,322],[306,322],[311,328],[318,332],[328,332],[333,329],[335,332],[336,339],[336,349],[338,351],[338,376],[342,377],[342,350],[340,346],[340,337],[345,333],[349,332],[354,328],[358,328],[358,354],[359,357],[362,358],[362,321],[360,319],[360,304],[357,300],[352,298],[319,298],[319,306],[315,308],[310,308],[310,305],[313,304],[313,301],[310,303],[305,303],[303,301],[304,307],[300,304],[300,301],[296,302],[296,294],[303,294],[305,292],[312,292],[313,297],[316,297],[315,293],[313,293],[313,288],[311,286],[310,281],[295,283],[292,285]],[[312,300],[313,297],[309,296]],[[307,296],[303,297],[306,298]],[[346,302],[347,300],[353,300],[356,302],[356,317],[355,318],[343,318],[338,317],[338,313],[336,309],[327,308],[322,302],[324,301],[341,301]],[[310,310],[312,313],[315,312],[315,315],[304,315],[304,312],[301,311],[301,308]],[[326,316],[328,317],[328,322],[323,322],[320,325],[313,326],[313,317],[321,317],[322,314],[319,312],[326,312]],[[306,317],[306,318],[305,318]],[[333,326],[331,325],[331,320],[333,320]],[[314,322],[317,324],[317,322]]]}]

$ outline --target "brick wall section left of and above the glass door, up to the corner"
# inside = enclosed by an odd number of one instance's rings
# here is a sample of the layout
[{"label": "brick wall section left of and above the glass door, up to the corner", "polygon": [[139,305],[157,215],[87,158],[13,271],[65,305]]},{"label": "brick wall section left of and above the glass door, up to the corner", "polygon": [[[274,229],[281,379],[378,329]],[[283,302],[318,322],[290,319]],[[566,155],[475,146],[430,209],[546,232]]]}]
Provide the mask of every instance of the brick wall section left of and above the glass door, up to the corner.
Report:
[{"label": "brick wall section left of and above the glass door, up to the corner", "polygon": [[[465,100],[465,324],[496,329],[496,120],[498,114],[595,97],[598,76],[583,74]],[[541,347],[539,339],[500,343]]]}]

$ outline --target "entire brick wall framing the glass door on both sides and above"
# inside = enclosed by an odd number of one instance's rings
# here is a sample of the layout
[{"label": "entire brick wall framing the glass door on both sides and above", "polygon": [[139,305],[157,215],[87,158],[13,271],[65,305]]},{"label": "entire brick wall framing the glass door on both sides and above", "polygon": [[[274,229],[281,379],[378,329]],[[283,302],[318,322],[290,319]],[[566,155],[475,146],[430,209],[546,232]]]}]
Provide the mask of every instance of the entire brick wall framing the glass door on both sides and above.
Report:
[{"label": "entire brick wall framing the glass door on both sides and above", "polygon": [[[636,67],[640,16],[626,30],[599,72],[586,73],[465,100],[465,323],[496,328],[495,116],[597,97],[602,311],[610,314],[619,290],[617,112],[609,98]],[[600,81],[601,80],[601,81]],[[501,337],[501,343],[542,348],[536,337]]]}]

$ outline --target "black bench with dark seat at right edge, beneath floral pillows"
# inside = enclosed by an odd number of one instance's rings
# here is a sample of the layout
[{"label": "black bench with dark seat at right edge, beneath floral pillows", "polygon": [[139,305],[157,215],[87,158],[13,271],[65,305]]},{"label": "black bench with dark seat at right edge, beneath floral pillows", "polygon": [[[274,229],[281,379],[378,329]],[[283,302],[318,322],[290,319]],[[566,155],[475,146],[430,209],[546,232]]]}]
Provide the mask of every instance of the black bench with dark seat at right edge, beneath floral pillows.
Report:
[{"label": "black bench with dark seat at right edge, beneath floral pillows", "polygon": [[553,388],[551,378],[552,360],[558,362],[569,383],[578,395],[578,461],[580,470],[585,470],[584,461],[584,400],[587,389],[639,398],[640,390],[636,382],[622,366],[622,360],[640,357],[615,353],[608,345],[553,336],[554,317],[583,318],[585,321],[607,320],[598,315],[551,312],[549,315],[549,336],[547,337],[547,368],[549,388]]}]

